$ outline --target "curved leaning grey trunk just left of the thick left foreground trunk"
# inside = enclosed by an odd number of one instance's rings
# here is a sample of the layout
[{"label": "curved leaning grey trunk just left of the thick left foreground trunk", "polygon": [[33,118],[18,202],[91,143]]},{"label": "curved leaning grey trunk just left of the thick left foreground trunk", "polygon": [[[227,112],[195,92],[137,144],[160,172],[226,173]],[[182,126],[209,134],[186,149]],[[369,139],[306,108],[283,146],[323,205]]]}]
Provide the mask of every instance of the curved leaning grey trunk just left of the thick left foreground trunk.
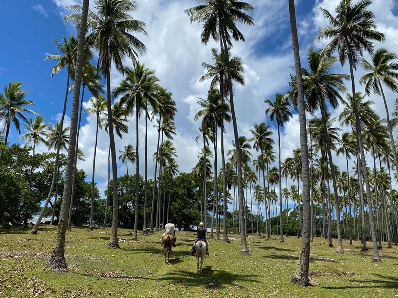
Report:
[{"label": "curved leaning grey trunk just left of the thick left foreground trunk", "polygon": [[[52,197],[53,191],[54,191],[54,186],[55,186],[55,182],[57,180],[57,172],[58,172],[58,163],[59,163],[59,151],[61,149],[61,138],[62,138],[62,128],[64,125],[64,119],[65,119],[65,112],[66,112],[66,103],[68,101],[68,89],[69,89],[69,77],[70,77],[70,67],[68,67],[68,77],[66,80],[66,91],[65,91],[65,100],[64,100],[64,108],[62,111],[62,117],[61,117],[61,121],[60,121],[60,127],[59,127],[59,134],[58,134],[58,140],[57,140],[57,149],[56,149],[56,153],[55,153],[55,161],[54,161],[54,173],[53,173],[53,179],[51,181],[51,186],[50,186],[50,190],[48,192],[48,196],[47,196],[47,200],[44,203],[43,209],[41,210],[41,213],[39,215],[39,218],[37,219],[36,224],[34,225],[31,233],[32,234],[37,234],[37,231],[39,230],[39,225],[40,222],[44,216],[44,213],[47,210],[47,206],[48,203],[50,202],[50,199]],[[79,87],[80,88],[80,87]],[[78,97],[79,100],[79,97]]]}]

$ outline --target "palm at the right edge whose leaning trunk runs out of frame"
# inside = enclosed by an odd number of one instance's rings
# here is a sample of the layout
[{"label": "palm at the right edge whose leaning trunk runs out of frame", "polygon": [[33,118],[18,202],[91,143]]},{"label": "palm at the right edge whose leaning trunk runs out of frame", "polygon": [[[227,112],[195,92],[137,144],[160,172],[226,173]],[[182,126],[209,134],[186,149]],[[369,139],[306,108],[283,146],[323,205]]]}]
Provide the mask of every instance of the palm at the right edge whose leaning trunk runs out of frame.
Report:
[{"label": "palm at the right edge whose leaning trunk runs out of frame", "polygon": [[[394,163],[398,164],[397,151],[395,147],[393,130],[390,123],[390,113],[387,107],[386,96],[384,95],[382,82],[391,90],[398,92],[396,79],[398,78],[398,63],[392,62],[397,59],[397,55],[386,49],[378,49],[372,55],[372,62],[362,59],[362,68],[369,72],[359,79],[361,84],[365,84],[365,92],[369,96],[371,90],[383,98],[384,108],[386,109],[387,128],[390,135],[390,144],[393,151]],[[398,167],[396,167],[398,173]]]}]

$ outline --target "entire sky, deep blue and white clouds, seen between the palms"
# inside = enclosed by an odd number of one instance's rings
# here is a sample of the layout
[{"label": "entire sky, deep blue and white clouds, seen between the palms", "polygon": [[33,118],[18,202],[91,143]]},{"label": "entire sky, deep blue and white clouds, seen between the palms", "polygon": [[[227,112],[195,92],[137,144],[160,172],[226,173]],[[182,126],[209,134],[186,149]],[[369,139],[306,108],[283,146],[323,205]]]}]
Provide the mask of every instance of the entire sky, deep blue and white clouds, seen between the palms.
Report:
[{"label": "entire sky, deep blue and white clouds, seen between the palms", "polygon": [[[91,7],[93,0],[91,2]],[[235,107],[240,135],[250,137],[249,129],[254,123],[265,121],[273,128],[277,138],[276,126],[265,116],[264,99],[274,100],[276,93],[288,90],[290,80],[290,66],[294,64],[291,48],[289,14],[287,1],[252,0],[255,10],[251,13],[254,27],[239,24],[238,27],[245,36],[246,42],[235,43],[232,54],[242,57],[245,72],[245,86],[236,86]],[[298,0],[296,2],[299,44],[302,64],[305,67],[306,52],[312,39],[322,26],[328,25],[319,11],[319,6],[329,9],[334,14],[337,0]],[[61,71],[51,78],[54,61],[44,58],[48,54],[58,54],[53,39],[62,41],[62,37],[69,38],[74,34],[74,27],[65,24],[62,17],[66,13],[65,5],[81,4],[81,0],[18,0],[2,1],[0,10],[0,90],[10,81],[20,81],[24,88],[32,90],[28,98],[35,102],[33,109],[45,117],[45,121],[54,123],[60,119],[66,87],[66,72]],[[137,0],[137,11],[133,17],[147,24],[148,36],[137,36],[148,48],[145,55],[139,57],[141,62],[154,69],[160,79],[160,84],[169,92],[177,103],[178,113],[175,118],[177,136],[174,145],[177,148],[177,161],[180,170],[189,172],[197,162],[197,153],[201,144],[195,142],[199,134],[199,123],[194,121],[194,115],[199,107],[198,97],[206,97],[209,82],[199,83],[204,70],[202,62],[211,63],[210,50],[218,43],[211,42],[207,46],[200,43],[201,26],[190,24],[189,17],[183,13],[184,9],[199,4],[198,0]],[[391,51],[397,51],[398,18],[397,2],[393,0],[375,0],[371,10],[375,13],[378,30],[386,35],[386,42],[382,45]],[[326,41],[312,44],[321,48]],[[376,45],[375,48],[380,47]],[[126,61],[126,65],[131,65]],[[335,72],[348,74],[346,67],[336,65]],[[356,73],[358,82],[361,71]],[[113,71],[112,86],[122,79],[122,75]],[[361,87],[358,85],[358,89]],[[396,94],[387,94],[390,109]],[[71,96],[71,94],[70,94]],[[85,97],[87,103],[89,94]],[[375,98],[378,102],[380,99]],[[69,101],[70,103],[70,101]],[[85,106],[87,104],[85,103]],[[385,117],[384,108],[379,101],[375,109]],[[334,115],[338,115],[337,110]],[[67,124],[70,115],[70,104],[67,108]],[[135,119],[131,118],[130,133],[122,140],[116,140],[116,150],[122,150],[125,145],[135,145]],[[134,124],[134,125],[133,125]],[[226,127],[226,151],[231,149],[230,140],[233,138],[232,125]],[[85,163],[78,166],[83,168],[88,179],[91,178],[92,154],[94,144],[95,118],[84,115],[81,131],[80,148],[85,154]],[[143,138],[144,122],[140,123],[140,136]],[[11,127],[10,142],[17,141],[18,134]],[[150,128],[148,133],[149,152],[156,148],[157,133]],[[100,190],[105,187],[107,178],[107,149],[108,136],[101,131],[99,148],[97,149],[96,181]],[[143,139],[142,139],[143,140]],[[281,134],[282,160],[291,156],[293,149],[299,146],[298,117],[295,115],[286,124]],[[140,146],[143,148],[143,146]],[[37,151],[47,151],[39,146]],[[253,151],[253,159],[257,153]],[[143,153],[140,153],[143,156]],[[219,158],[220,159],[220,158]],[[339,161],[337,160],[337,165]],[[119,175],[125,173],[125,165],[118,164]],[[344,161],[341,167],[344,168]],[[153,165],[149,173],[153,175]],[[218,167],[220,168],[220,167]],[[130,167],[130,171],[131,167]],[[151,177],[151,176],[150,176]]]}]

